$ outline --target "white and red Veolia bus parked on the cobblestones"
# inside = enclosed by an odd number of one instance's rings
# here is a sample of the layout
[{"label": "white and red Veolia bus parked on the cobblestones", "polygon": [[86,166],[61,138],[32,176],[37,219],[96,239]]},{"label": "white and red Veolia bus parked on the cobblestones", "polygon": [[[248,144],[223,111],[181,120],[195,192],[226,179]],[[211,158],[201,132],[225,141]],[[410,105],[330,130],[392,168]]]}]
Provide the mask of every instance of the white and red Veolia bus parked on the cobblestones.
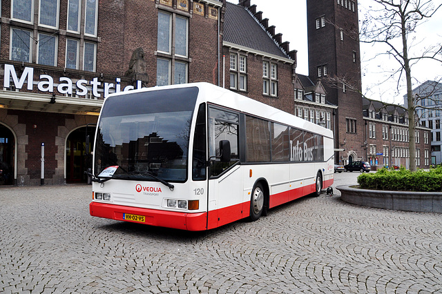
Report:
[{"label": "white and red Veolia bus parked on the cobblestones", "polygon": [[110,95],[97,123],[90,215],[202,231],[334,179],[332,130],[212,84]]}]

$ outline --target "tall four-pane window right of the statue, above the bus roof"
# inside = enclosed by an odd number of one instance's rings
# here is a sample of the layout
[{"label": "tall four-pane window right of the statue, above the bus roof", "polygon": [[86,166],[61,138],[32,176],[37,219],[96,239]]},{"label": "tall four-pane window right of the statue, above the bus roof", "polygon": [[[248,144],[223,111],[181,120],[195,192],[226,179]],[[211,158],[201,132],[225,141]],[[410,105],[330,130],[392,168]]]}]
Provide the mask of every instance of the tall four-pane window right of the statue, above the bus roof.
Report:
[{"label": "tall four-pane window right of the statue, above the bus roof", "polygon": [[[188,62],[182,58],[189,56],[188,39],[189,19],[158,12],[157,86],[187,83]],[[180,60],[175,57],[180,57]]]}]

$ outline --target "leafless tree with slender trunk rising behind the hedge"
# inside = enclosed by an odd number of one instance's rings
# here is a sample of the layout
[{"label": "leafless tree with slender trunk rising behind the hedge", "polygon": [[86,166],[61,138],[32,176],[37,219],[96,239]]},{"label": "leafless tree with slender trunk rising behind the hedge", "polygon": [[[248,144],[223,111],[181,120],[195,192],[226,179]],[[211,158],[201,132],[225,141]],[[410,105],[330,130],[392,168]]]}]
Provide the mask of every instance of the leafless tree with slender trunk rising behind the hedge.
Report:
[{"label": "leafless tree with slender trunk rising behind the hedge", "polygon": [[425,50],[410,53],[416,40],[411,37],[418,32],[419,25],[430,19],[439,8],[441,1],[434,0],[371,0],[372,6],[361,22],[360,41],[364,43],[384,43],[388,50],[382,52],[398,62],[397,85],[405,75],[407,85],[407,112],[410,133],[410,170],[416,170],[416,107],[419,95],[412,91],[412,66],[423,59],[442,62],[442,46],[435,43]]}]

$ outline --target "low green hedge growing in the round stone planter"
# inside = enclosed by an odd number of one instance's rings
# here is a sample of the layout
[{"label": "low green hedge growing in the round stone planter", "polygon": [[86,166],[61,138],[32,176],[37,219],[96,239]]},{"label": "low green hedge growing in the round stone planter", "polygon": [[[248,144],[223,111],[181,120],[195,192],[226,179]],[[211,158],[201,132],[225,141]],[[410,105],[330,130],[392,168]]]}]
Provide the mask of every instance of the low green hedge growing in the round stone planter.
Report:
[{"label": "low green hedge growing in the round stone planter", "polygon": [[363,189],[441,192],[442,166],[430,171],[417,170],[412,173],[401,167],[399,170],[382,168],[376,173],[363,173],[358,177],[358,184]]}]

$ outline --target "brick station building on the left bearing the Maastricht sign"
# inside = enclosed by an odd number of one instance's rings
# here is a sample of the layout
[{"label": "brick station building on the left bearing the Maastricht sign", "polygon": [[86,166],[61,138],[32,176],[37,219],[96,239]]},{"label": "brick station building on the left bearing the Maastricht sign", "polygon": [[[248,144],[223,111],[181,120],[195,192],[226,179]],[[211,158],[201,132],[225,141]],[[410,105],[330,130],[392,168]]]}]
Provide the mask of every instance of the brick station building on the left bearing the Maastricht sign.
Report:
[{"label": "brick station building on the left bearing the Maastricht sign", "polygon": [[86,181],[86,135],[108,93],[218,84],[222,7],[214,0],[1,1],[0,184]]}]

